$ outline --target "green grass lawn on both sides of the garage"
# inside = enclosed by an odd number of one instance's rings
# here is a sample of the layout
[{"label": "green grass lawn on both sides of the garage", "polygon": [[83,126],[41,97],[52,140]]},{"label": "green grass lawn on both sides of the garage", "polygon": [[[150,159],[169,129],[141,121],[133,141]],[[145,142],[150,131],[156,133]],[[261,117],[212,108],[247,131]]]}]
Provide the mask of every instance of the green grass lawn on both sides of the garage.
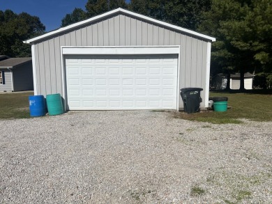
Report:
[{"label": "green grass lawn on both sides of the garage", "polygon": [[[29,95],[33,93],[0,94],[0,118],[30,118]],[[210,97],[229,97],[226,112],[201,111],[200,113],[176,112],[174,117],[209,123],[241,123],[239,118],[255,121],[272,121],[271,91],[248,91],[248,93],[210,92]]]}]

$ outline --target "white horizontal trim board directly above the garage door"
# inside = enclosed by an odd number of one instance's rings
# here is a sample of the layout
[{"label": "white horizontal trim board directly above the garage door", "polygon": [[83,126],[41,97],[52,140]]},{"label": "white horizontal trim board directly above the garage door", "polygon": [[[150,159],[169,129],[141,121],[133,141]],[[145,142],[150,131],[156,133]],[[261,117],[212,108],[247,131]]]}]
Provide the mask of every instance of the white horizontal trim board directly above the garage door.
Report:
[{"label": "white horizontal trim board directly above the garage door", "polygon": [[61,47],[63,54],[178,54],[179,46],[172,47]]}]

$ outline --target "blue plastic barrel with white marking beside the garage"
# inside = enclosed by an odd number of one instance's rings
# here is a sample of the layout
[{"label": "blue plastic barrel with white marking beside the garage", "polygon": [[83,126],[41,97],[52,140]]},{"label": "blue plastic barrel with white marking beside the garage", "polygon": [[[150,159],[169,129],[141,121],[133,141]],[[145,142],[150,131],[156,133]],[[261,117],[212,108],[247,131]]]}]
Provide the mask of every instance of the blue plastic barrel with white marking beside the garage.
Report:
[{"label": "blue plastic barrel with white marking beside the garage", "polygon": [[45,116],[45,97],[29,95],[29,111],[31,117]]}]

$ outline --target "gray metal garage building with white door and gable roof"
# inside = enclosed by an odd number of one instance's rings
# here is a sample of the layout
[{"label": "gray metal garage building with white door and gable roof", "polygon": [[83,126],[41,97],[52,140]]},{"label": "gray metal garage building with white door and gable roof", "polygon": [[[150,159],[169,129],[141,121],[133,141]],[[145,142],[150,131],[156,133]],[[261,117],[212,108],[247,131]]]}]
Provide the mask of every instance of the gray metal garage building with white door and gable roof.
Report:
[{"label": "gray metal garage building with white door and gable roof", "polygon": [[66,110],[182,110],[180,88],[203,88],[209,107],[215,38],[117,8],[38,36],[35,95],[61,93]]}]

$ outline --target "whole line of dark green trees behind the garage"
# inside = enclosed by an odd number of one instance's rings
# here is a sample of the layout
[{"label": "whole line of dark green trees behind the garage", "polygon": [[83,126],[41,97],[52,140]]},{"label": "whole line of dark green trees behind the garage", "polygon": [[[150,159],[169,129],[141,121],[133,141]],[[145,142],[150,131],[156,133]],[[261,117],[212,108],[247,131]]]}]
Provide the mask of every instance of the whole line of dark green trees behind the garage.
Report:
[{"label": "whole line of dark green trees behind the garage", "polygon": [[[271,0],[88,0],[85,10],[75,8],[61,27],[100,15],[114,8],[199,31],[216,38],[212,44],[211,75],[254,73],[255,86],[272,88]],[[22,40],[45,33],[38,17],[0,10],[0,54],[30,56]],[[229,88],[229,80],[227,84]]]}]

